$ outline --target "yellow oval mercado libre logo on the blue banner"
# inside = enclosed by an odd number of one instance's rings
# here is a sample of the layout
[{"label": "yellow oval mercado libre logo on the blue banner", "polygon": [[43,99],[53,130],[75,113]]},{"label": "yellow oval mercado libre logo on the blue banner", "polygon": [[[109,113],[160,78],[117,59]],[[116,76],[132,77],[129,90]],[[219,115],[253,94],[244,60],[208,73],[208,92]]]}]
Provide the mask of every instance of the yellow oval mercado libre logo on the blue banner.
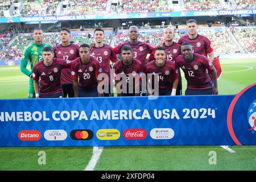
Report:
[{"label": "yellow oval mercado libre logo on the blue banner", "polygon": [[101,129],[97,131],[96,136],[100,140],[117,140],[120,138],[120,131],[117,129]]}]

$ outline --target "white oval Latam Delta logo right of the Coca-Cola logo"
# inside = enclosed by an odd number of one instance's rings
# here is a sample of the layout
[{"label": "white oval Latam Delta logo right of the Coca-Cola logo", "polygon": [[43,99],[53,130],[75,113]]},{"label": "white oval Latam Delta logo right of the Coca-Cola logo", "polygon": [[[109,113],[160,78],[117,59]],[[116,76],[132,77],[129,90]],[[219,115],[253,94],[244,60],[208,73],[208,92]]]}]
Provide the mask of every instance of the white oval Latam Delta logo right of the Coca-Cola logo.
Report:
[{"label": "white oval Latam Delta logo right of the Coca-Cola logo", "polygon": [[172,130],[170,128],[152,129],[150,131],[150,137],[152,139],[156,139],[156,140],[172,139],[172,138],[174,138],[174,130]]}]

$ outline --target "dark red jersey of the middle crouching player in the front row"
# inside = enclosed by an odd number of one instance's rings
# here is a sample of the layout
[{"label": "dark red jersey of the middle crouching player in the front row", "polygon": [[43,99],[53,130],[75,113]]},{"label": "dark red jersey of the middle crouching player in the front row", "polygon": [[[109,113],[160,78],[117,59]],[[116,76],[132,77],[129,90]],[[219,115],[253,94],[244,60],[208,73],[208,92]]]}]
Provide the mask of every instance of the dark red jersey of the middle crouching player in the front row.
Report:
[{"label": "dark red jersey of the middle crouching player in the front row", "polygon": [[[122,60],[117,61],[117,63],[114,64],[114,72],[118,80],[120,80],[120,77],[118,74],[125,74],[126,75],[126,83],[127,83],[127,93],[129,93],[129,83],[130,78],[129,73],[134,76],[135,73],[138,75],[141,75],[143,73],[142,64],[140,61],[133,59],[133,64],[131,64],[131,67],[127,68],[122,64]],[[138,76],[137,75],[137,76]],[[133,81],[133,93],[135,93],[135,80]]]}]

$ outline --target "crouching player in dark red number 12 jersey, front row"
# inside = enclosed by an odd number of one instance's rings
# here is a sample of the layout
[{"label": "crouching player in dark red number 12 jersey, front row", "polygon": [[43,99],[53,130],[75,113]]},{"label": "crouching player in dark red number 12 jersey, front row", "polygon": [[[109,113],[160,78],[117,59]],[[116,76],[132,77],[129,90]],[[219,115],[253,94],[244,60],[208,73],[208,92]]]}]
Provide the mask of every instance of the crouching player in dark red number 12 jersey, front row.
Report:
[{"label": "crouching player in dark red number 12 jersey, front row", "polygon": [[217,74],[212,62],[203,55],[193,53],[190,43],[181,44],[181,54],[175,64],[183,70],[188,83],[185,95],[217,95]]}]

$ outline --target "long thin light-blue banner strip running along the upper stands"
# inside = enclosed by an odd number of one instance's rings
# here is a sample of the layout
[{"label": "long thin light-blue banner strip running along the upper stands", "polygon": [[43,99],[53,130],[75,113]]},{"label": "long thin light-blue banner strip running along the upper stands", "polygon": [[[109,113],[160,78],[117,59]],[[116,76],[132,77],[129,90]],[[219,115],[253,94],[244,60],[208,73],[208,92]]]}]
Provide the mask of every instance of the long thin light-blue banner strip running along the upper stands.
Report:
[{"label": "long thin light-blue banner strip running along the upper stands", "polygon": [[256,9],[242,10],[209,10],[209,11],[171,11],[152,13],[123,13],[104,15],[55,15],[55,16],[23,16],[0,18],[0,23],[16,22],[44,22],[61,20],[92,20],[92,19],[130,19],[130,18],[164,18],[164,17],[186,17],[186,16],[221,16],[221,15],[243,15],[256,14]]}]

